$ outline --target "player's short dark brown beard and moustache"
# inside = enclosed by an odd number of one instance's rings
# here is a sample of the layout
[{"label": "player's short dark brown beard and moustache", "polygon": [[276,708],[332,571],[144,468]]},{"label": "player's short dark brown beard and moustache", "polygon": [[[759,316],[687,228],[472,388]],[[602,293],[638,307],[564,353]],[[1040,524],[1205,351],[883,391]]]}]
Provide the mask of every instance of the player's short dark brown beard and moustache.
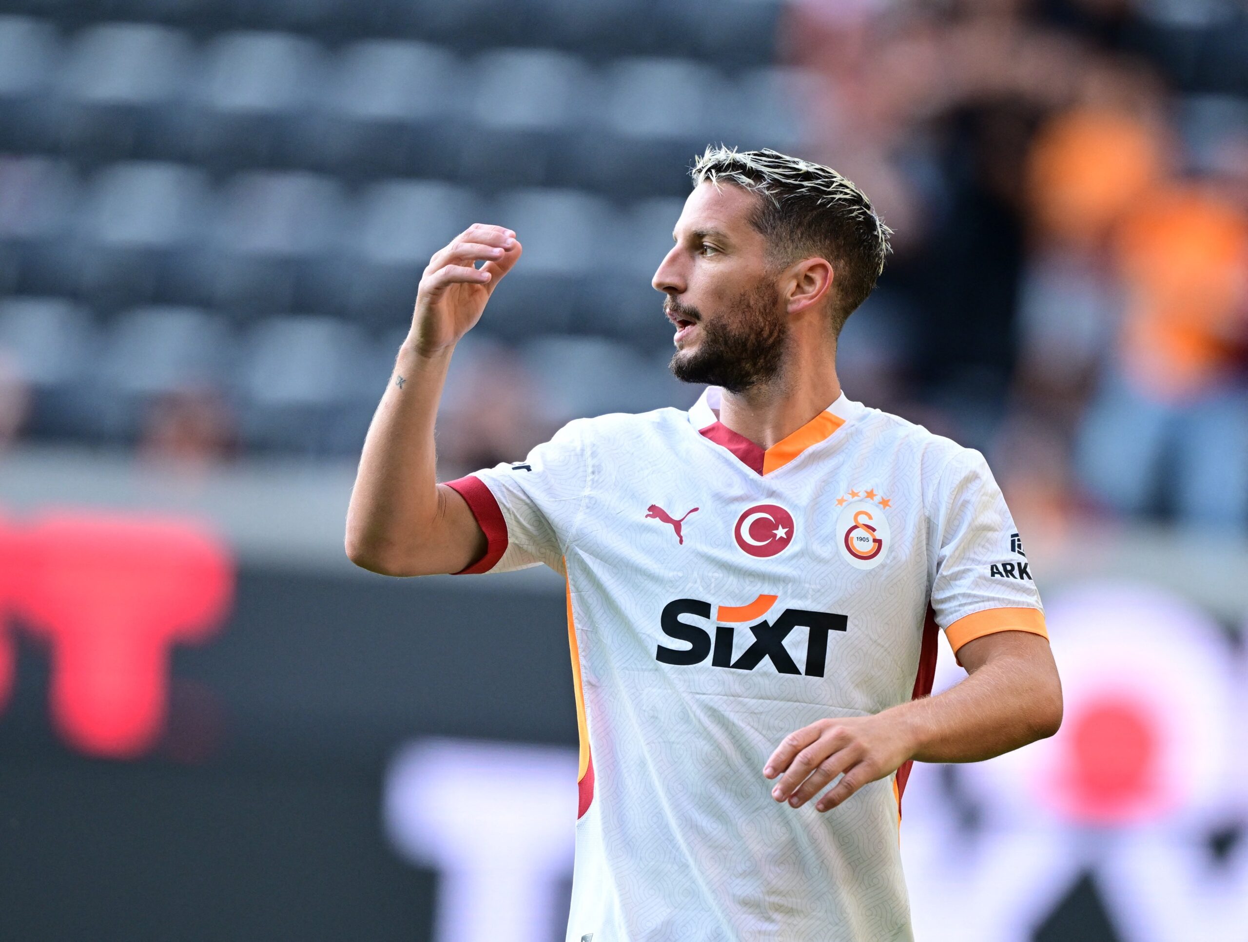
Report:
[{"label": "player's short dark brown beard and moustache", "polygon": [[789,341],[789,324],[780,311],[774,284],[744,292],[728,311],[710,321],[698,308],[669,297],[664,312],[703,328],[693,351],[676,351],[669,368],[685,383],[718,386],[730,393],[766,383],[780,373]]}]

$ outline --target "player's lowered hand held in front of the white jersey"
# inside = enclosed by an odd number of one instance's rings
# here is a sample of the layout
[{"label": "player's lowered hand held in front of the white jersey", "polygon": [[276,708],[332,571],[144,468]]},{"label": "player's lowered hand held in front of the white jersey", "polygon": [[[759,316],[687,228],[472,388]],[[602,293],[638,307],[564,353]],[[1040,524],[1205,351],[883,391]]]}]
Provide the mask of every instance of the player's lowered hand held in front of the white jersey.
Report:
[{"label": "player's lowered hand held in front of the white jersey", "polygon": [[836,787],[815,804],[816,811],[827,811],[864,785],[897,771],[914,755],[914,746],[901,717],[890,714],[819,720],[785,736],[763,769],[768,779],[781,776],[771,797],[801,807],[841,775]]}]

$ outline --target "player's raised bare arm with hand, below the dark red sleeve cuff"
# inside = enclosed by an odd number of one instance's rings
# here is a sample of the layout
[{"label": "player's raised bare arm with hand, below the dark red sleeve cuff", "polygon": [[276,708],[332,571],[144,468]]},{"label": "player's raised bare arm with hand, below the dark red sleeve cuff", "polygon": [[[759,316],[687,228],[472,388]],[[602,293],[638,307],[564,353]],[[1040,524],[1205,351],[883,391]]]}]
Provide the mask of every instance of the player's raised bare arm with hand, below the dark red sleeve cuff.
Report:
[{"label": "player's raised bare arm with hand, below the dark red sleeve cuff", "polygon": [[[515,233],[475,225],[433,256],[412,329],[373,414],[347,508],[347,556],[383,575],[456,573],[485,549],[459,494],[437,483],[433,425],[456,343],[520,257]],[[480,268],[474,262],[483,261]]]}]

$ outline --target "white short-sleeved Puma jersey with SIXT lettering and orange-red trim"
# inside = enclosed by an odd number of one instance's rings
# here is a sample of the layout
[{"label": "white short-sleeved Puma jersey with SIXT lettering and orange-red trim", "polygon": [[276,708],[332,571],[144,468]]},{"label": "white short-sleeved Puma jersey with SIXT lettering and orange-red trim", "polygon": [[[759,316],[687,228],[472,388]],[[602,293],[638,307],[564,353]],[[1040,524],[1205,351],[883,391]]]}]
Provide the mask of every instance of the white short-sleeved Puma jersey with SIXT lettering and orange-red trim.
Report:
[{"label": "white short-sleeved Puma jersey with SIXT lettering and orange-red trim", "polygon": [[452,482],[466,573],[567,578],[580,727],[569,942],[911,938],[909,767],[830,812],[763,765],[816,720],[930,692],[937,629],[1045,635],[983,457],[841,396],[763,449],[688,412],[578,419]]}]

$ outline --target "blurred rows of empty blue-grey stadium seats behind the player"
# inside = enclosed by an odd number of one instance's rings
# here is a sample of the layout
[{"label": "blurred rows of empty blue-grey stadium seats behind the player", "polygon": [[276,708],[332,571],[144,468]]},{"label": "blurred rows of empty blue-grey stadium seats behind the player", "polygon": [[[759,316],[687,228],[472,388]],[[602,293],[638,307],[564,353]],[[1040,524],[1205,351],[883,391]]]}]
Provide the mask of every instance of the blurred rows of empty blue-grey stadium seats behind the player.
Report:
[{"label": "blurred rows of empty blue-grey stadium seats behind the player", "polygon": [[10,0],[0,347],[29,433],[132,440],[186,376],[250,447],[348,454],[474,221],[525,247],[475,339],[528,344],[552,418],[685,396],[650,278],[695,153],[796,140],[779,6]]}]

